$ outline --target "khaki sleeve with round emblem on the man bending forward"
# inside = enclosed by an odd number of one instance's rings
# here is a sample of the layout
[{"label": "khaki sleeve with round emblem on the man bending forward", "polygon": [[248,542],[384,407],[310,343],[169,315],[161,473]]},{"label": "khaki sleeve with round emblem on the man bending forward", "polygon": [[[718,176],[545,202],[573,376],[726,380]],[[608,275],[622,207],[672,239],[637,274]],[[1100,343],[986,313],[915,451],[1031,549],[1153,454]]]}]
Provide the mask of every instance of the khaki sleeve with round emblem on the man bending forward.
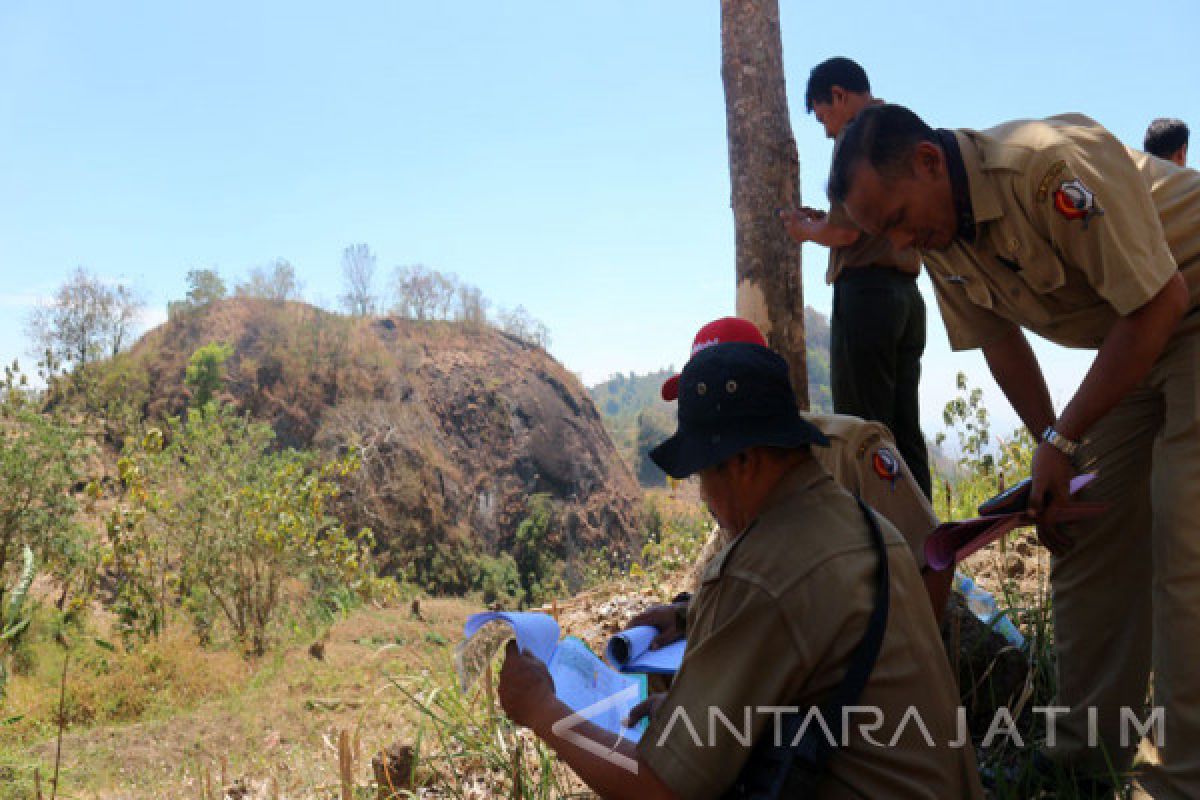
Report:
[{"label": "khaki sleeve with round emblem on the man bending forward", "polygon": [[1122,317],[1178,271],[1150,187],[1103,127],[1066,128],[1057,146],[1037,154],[1026,180],[1022,204],[1033,227]]}]

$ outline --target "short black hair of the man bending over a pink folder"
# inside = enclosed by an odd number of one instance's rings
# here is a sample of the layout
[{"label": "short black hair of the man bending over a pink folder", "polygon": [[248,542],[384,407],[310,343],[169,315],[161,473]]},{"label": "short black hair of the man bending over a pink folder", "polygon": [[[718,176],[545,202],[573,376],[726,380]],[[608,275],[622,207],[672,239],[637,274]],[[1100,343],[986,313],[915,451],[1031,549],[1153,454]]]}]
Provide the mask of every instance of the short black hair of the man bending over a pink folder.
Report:
[{"label": "short black hair of the man bending over a pink folder", "polygon": [[829,169],[829,199],[845,203],[854,170],[865,161],[880,175],[907,175],[912,154],[922,142],[937,144],[937,134],[904,106],[870,106],[851,120],[834,146]]}]

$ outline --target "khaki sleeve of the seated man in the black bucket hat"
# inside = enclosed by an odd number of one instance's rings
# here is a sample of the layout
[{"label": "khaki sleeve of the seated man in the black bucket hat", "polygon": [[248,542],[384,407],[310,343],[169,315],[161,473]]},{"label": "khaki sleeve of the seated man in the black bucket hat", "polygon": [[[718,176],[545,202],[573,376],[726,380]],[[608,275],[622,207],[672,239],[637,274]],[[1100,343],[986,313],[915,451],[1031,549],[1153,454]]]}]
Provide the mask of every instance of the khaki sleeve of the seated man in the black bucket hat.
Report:
[{"label": "khaki sleeve of the seated man in the black bucket hat", "polygon": [[689,642],[666,702],[637,745],[676,794],[700,800],[719,798],[733,784],[752,742],[772,723],[770,712],[760,709],[794,698],[798,678],[812,662],[767,593],[727,576],[720,591],[719,624],[695,648]]}]

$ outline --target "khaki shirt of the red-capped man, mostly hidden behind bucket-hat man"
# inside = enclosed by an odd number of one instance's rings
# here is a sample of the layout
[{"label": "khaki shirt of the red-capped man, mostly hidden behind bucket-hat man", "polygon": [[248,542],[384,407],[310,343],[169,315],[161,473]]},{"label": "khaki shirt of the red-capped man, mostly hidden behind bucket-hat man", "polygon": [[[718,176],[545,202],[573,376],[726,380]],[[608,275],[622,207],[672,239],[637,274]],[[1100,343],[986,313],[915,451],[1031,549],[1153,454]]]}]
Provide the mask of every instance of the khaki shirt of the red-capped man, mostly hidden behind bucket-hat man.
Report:
[{"label": "khaki shirt of the red-capped man, mostly hidden behind bucket-hat man", "polygon": [[[834,482],[863,498],[908,542],[918,569],[925,566],[925,540],[937,527],[937,515],[913,480],[908,465],[881,422],[844,414],[805,414],[829,438],[828,447],[812,447],[812,457]],[[708,563],[730,543],[732,534],[718,528],[706,542],[692,570],[689,591],[700,589]]]}]

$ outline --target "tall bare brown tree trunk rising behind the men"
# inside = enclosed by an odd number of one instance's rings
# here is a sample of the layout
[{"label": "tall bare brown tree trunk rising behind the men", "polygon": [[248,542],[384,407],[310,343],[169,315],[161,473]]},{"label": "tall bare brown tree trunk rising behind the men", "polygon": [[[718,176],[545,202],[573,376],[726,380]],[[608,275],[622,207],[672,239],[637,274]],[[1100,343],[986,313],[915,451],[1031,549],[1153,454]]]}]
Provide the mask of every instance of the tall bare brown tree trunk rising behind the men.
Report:
[{"label": "tall bare brown tree trunk rising behind the men", "polygon": [[737,246],[737,313],[787,360],[809,408],[800,247],[779,219],[800,204],[800,164],[787,114],[778,0],[721,0],[721,79]]}]

